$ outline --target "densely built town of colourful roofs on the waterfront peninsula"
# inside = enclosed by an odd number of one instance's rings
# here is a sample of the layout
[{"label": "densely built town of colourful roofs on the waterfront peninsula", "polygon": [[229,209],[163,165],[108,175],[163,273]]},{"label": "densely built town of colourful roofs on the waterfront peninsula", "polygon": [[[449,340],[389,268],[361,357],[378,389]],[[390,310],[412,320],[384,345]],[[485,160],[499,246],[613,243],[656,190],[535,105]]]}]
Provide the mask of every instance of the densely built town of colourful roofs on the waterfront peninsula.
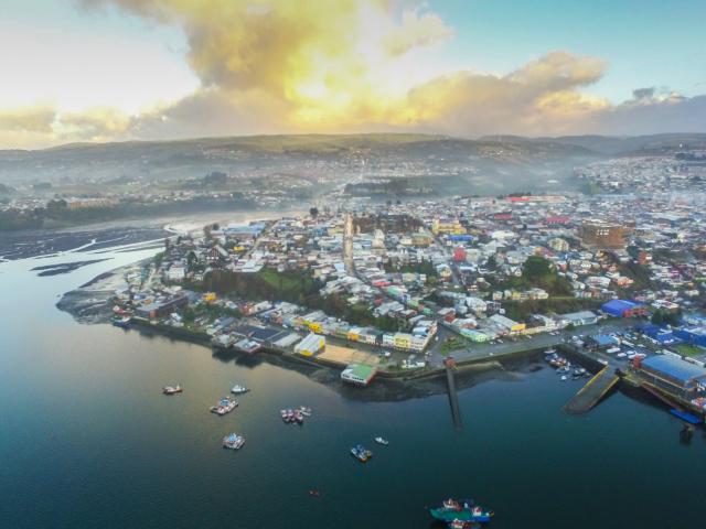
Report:
[{"label": "densely built town of colourful roofs on the waterfront peninsula", "polygon": [[[169,237],[126,274],[114,323],[336,368],[360,386],[561,346],[700,408],[703,199],[333,196],[307,215]],[[648,371],[652,356],[664,373]]]}]

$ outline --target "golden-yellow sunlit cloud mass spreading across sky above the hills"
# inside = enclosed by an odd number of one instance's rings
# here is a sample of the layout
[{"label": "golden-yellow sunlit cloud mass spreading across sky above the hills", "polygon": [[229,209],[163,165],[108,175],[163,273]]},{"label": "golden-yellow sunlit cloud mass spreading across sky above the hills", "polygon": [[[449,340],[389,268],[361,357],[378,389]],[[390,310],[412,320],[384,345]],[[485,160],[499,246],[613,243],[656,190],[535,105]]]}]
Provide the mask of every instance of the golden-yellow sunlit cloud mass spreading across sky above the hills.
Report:
[{"label": "golden-yellow sunlit cloud mass spreading across sky above the hills", "polygon": [[[6,145],[381,130],[639,133],[633,123],[655,128],[660,120],[673,130],[682,121],[698,128],[684,109],[702,105],[699,98],[654,87],[637,88],[621,104],[591,94],[609,68],[600,57],[554,51],[506,73],[442,68],[435,54],[453,42],[457,30],[432,3],[75,1],[94,15],[117,9],[178,28],[197,86],[137,110],[103,104],[0,110]],[[125,83],[135,88],[136,80]]]}]

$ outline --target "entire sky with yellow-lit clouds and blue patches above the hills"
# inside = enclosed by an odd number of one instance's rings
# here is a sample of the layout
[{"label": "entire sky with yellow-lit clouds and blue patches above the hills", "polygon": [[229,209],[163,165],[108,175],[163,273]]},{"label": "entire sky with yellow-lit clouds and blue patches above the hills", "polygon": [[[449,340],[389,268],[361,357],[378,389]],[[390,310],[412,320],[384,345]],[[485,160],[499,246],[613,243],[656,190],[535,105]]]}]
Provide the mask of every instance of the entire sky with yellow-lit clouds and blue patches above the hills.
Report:
[{"label": "entire sky with yellow-lit clouds and blue patches above the hills", "polygon": [[0,149],[706,132],[704,0],[0,0]]}]

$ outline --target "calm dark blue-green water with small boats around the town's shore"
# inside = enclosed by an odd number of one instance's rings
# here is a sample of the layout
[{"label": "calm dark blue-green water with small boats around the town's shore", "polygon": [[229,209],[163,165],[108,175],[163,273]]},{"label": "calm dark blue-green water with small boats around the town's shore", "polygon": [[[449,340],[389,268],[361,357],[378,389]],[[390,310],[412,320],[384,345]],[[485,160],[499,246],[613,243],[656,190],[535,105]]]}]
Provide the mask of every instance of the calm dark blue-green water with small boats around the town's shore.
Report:
[{"label": "calm dark blue-green water with small boats around the town's shore", "polygon": [[[484,382],[460,393],[458,433],[445,396],[350,400],[54,307],[151,251],[46,278],[29,269],[92,257],[0,264],[1,527],[428,528],[424,506],[449,495],[493,508],[495,528],[703,527],[702,431],[683,445],[678,421],[621,393],[573,418],[559,407],[578,387],[546,369]],[[160,395],[176,381],[183,395]],[[254,388],[239,409],[208,413],[235,381]],[[314,415],[285,425],[278,410],[298,404]],[[220,447],[231,431],[247,438],[237,453]],[[349,455],[357,442],[375,451],[367,465]]]}]

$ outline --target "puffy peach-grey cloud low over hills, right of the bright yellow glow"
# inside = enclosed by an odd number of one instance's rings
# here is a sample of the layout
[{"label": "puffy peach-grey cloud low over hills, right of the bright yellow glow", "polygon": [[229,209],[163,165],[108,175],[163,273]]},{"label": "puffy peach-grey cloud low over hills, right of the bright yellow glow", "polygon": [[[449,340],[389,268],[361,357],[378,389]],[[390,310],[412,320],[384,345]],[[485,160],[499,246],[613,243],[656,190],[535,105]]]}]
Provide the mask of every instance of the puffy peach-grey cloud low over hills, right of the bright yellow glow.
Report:
[{"label": "puffy peach-grey cloud low over hills, right of the bright yellow glow", "polygon": [[545,134],[564,132],[577,119],[610,104],[579,89],[596,83],[606,63],[554,52],[504,76],[461,72],[416,87],[407,108],[416,122],[452,133]]}]

